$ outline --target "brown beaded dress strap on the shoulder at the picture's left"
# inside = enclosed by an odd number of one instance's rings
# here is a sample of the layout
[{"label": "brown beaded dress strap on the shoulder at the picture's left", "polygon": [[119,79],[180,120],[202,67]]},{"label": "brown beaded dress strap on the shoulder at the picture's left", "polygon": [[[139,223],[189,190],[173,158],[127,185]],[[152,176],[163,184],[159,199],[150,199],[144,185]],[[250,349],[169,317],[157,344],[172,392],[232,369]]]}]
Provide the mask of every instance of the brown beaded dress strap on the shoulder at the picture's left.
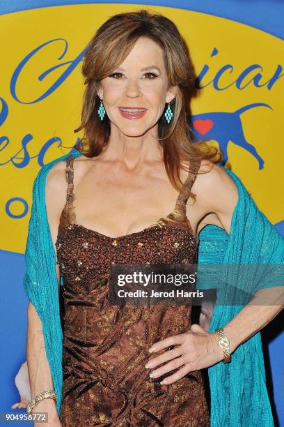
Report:
[{"label": "brown beaded dress strap on the shoulder at the picture's left", "polygon": [[74,157],[72,154],[66,158],[66,167],[65,167],[65,178],[67,181],[67,192],[66,192],[66,202],[61,212],[59,228],[68,227],[70,224],[76,223],[76,215],[74,212]]}]

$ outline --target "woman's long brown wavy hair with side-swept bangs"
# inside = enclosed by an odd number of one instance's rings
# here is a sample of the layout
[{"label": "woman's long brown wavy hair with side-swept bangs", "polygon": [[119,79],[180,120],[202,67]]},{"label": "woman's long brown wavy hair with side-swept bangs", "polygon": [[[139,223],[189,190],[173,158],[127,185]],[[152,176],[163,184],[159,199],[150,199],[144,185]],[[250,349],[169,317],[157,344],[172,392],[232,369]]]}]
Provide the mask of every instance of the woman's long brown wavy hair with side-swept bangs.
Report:
[{"label": "woman's long brown wavy hair with side-swept bangs", "polygon": [[[84,129],[84,137],[74,148],[84,156],[98,156],[107,146],[111,133],[107,114],[100,120],[97,109],[100,97],[97,89],[100,80],[113,73],[122,63],[140,37],[154,40],[164,52],[168,75],[168,87],[177,86],[176,96],[171,101],[173,119],[167,123],[164,112],[158,122],[158,141],[162,147],[166,173],[174,188],[182,188],[181,162],[189,161],[189,167],[196,160],[221,161],[221,152],[207,140],[193,142],[193,133],[187,119],[190,117],[190,99],[194,93],[196,76],[189,57],[187,44],[175,24],[164,15],[148,10],[119,13],[109,18],[97,30],[86,47],[82,74],[84,76],[83,107],[81,125],[74,132]],[[187,169],[188,170],[188,169]],[[190,171],[190,168],[189,168]]]}]

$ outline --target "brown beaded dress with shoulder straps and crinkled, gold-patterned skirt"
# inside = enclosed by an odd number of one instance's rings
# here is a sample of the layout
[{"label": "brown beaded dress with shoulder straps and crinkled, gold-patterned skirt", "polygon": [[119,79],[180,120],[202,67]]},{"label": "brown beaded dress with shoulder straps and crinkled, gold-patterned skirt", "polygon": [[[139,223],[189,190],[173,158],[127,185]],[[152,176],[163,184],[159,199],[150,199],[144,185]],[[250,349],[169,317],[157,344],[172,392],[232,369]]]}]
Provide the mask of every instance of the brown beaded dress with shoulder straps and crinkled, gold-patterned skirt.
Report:
[{"label": "brown beaded dress with shoulder straps and crinkled, gold-patterned skirt", "polygon": [[[56,241],[63,326],[63,427],[210,426],[200,370],[173,384],[173,373],[150,378],[148,348],[191,326],[191,306],[109,304],[111,263],[194,263],[198,243],[186,204],[200,163],[194,165],[175,209],[145,229],[108,237],[76,223],[73,160],[66,160],[67,200]],[[191,167],[192,169],[192,167]]]}]

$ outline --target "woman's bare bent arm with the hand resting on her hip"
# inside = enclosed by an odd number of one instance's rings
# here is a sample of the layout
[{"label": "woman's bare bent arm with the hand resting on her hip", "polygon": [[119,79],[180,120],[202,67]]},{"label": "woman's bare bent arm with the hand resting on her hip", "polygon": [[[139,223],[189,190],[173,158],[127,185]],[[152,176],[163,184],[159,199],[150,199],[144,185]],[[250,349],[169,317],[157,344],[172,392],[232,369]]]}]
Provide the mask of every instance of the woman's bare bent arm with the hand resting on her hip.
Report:
[{"label": "woman's bare bent arm with the hand resting on her hip", "polygon": [[[230,234],[230,223],[238,193],[235,183],[228,174],[214,165],[208,174],[198,176],[193,191],[198,195],[200,218],[203,218],[206,212],[211,215],[214,213],[216,216],[214,223],[219,223]],[[203,223],[206,223],[206,218]],[[269,305],[263,305],[264,301],[269,301]],[[283,307],[282,286],[255,292],[255,298],[242,308],[228,324],[223,326],[223,330],[230,340],[230,352],[234,352],[240,344],[271,322]],[[159,352],[171,345],[176,347],[151,359],[145,366],[146,368],[156,368],[169,361],[161,368],[153,370],[150,373],[151,377],[159,377],[173,369],[180,368],[173,375],[166,377],[163,384],[171,384],[192,370],[207,368],[223,359],[223,350],[219,346],[219,338],[216,333],[210,334],[198,324],[193,324],[190,331],[185,334],[171,336],[155,343],[149,351]]]}]

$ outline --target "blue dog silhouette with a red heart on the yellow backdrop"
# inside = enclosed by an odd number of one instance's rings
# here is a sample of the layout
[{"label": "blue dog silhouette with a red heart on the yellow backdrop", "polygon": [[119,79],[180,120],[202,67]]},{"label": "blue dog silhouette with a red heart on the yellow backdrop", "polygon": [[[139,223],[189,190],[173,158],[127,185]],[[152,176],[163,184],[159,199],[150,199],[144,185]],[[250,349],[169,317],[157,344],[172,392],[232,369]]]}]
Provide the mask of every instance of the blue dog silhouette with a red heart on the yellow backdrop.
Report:
[{"label": "blue dog silhouette with a red heart on the yellow backdrop", "polygon": [[206,139],[218,142],[219,148],[223,151],[223,165],[228,162],[227,149],[228,142],[231,141],[251,153],[258,160],[258,169],[262,169],[265,160],[260,157],[255,147],[249,144],[244,137],[240,117],[243,112],[255,107],[268,107],[273,110],[268,104],[253,103],[239,108],[235,112],[210,112],[192,116],[190,119],[191,128],[196,140],[200,140],[206,135]]}]

